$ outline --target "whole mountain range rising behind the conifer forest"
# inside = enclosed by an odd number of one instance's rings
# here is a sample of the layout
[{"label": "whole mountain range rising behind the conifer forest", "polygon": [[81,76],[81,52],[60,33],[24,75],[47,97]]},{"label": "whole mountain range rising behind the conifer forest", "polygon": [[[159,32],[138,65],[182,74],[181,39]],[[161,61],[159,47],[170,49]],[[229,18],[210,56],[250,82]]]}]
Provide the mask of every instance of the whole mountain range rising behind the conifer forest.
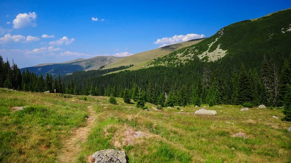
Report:
[{"label": "whole mountain range rising behind the conifer forest", "polygon": [[[47,63],[28,67],[42,74],[71,74],[76,71],[112,69],[130,66],[138,70],[155,65],[180,65],[198,57],[201,61],[216,61],[224,57],[233,60],[261,60],[262,54],[280,58],[291,52],[291,9],[278,11],[257,19],[244,20],[218,30],[213,36],[172,44],[128,57],[98,56],[63,63]],[[25,70],[27,68],[23,68]]]}]

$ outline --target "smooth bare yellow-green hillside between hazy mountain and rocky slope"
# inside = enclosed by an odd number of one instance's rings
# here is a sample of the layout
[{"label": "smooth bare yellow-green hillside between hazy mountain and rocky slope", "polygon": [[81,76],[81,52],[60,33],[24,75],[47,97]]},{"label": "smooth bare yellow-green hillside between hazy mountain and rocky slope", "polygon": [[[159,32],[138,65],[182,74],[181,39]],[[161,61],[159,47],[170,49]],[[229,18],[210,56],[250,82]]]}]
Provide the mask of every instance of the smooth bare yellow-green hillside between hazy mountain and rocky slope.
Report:
[{"label": "smooth bare yellow-green hillside between hazy mountain and rocky slope", "polygon": [[183,43],[178,43],[178,44],[172,44],[164,47],[160,47],[157,49],[149,50],[146,52],[142,53],[137,53],[131,56],[128,56],[123,59],[119,59],[111,64],[106,65],[103,69],[110,69],[114,67],[119,67],[119,66],[127,66],[130,64],[133,64],[133,67],[130,67],[128,70],[136,70],[140,69],[143,66],[145,66],[148,62],[151,62],[153,59],[158,58],[158,57],[163,57],[173,51],[176,51],[180,48],[187,47],[193,44],[197,44],[203,39],[195,39],[195,40],[190,40],[186,41]]}]

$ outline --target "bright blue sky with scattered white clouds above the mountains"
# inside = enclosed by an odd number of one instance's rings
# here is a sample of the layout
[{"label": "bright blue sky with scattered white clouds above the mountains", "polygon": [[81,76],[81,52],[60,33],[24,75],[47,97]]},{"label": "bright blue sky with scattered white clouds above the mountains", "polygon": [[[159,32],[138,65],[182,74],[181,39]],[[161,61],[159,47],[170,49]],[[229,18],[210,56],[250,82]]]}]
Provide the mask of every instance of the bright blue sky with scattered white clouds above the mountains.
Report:
[{"label": "bright blue sky with scattered white clouds above the mountains", "polygon": [[0,0],[0,55],[20,68],[127,56],[290,7],[290,0]]}]

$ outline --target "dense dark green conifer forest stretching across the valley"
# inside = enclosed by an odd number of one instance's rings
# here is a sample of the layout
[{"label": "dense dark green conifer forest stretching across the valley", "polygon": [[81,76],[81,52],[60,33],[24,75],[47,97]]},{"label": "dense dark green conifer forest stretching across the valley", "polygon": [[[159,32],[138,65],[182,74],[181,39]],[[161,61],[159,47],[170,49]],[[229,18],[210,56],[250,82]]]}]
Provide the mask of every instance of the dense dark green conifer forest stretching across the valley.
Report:
[{"label": "dense dark green conifer forest stretching across the valley", "polygon": [[20,73],[15,63],[11,66],[8,59],[4,62],[0,57],[0,87],[32,92],[56,89],[58,93],[123,97],[126,103],[133,99],[161,106],[285,106],[286,120],[291,120],[291,56],[276,60],[264,56],[262,62],[253,66],[229,59],[203,62],[194,58],[177,66],[107,74],[128,68],[122,66],[52,78],[49,74],[37,76],[28,70]]}]

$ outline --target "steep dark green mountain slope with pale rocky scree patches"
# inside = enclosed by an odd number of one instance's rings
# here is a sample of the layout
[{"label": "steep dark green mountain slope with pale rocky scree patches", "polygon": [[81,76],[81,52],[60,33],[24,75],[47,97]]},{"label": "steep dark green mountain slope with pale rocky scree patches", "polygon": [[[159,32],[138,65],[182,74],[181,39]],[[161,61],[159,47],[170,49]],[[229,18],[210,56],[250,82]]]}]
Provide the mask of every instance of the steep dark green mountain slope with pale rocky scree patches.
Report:
[{"label": "steep dark green mountain slope with pale rocky scree patches", "polygon": [[290,39],[291,9],[287,9],[226,26],[200,43],[155,59],[152,64],[173,65],[187,62],[194,56],[205,61],[215,61],[226,55],[242,53],[290,52]]}]

